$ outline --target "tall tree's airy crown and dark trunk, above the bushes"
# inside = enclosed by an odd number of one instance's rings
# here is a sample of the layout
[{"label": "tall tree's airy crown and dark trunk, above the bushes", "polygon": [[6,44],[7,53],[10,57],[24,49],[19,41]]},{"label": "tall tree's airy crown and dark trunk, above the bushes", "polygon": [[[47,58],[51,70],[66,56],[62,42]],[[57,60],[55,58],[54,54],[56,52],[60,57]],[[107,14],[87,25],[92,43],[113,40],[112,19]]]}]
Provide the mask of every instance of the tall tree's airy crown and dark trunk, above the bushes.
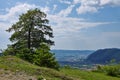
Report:
[{"label": "tall tree's airy crown and dark trunk, above the bushes", "polygon": [[53,38],[52,28],[48,25],[46,14],[39,9],[29,10],[22,14],[19,21],[9,28],[8,32],[14,32],[10,37],[10,41],[14,42],[14,49],[28,48],[36,49],[41,43],[54,45],[50,40]]}]

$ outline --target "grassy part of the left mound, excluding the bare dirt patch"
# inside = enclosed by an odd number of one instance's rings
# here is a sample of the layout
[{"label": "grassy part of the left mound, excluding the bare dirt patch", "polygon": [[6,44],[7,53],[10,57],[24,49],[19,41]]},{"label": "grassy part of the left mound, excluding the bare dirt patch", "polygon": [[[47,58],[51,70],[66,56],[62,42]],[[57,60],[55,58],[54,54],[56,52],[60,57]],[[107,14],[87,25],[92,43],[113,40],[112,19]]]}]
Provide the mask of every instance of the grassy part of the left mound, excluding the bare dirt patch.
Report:
[{"label": "grassy part of the left mound, excluding the bare dirt patch", "polygon": [[[29,76],[36,77],[36,79],[40,76],[43,76],[47,80],[73,80],[72,78],[64,74],[61,74],[56,70],[43,68],[43,67],[30,64],[15,56],[0,57],[0,69],[2,69],[1,71],[7,71],[7,72],[10,71],[14,73],[27,74]],[[8,80],[12,80],[12,79],[8,79]],[[24,80],[28,80],[28,79],[24,79]]]}]

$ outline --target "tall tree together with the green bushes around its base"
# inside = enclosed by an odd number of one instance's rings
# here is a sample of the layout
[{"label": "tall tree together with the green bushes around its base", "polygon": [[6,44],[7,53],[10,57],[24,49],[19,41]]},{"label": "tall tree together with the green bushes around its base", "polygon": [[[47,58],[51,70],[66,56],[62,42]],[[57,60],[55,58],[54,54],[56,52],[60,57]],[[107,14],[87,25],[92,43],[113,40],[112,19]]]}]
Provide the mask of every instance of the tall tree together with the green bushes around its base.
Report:
[{"label": "tall tree together with the green bushes around its base", "polygon": [[13,44],[4,53],[17,55],[39,66],[58,69],[59,65],[49,48],[54,41],[51,40],[53,30],[48,24],[46,14],[39,9],[22,14],[19,21],[7,30],[13,32],[10,37]]}]

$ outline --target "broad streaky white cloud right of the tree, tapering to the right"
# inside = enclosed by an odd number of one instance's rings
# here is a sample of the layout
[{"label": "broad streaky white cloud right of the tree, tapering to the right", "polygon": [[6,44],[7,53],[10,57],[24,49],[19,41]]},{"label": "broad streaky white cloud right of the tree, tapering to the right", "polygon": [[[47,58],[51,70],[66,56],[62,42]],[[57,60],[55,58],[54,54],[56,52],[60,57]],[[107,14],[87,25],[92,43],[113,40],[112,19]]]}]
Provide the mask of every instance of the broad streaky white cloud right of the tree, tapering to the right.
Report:
[{"label": "broad streaky white cloud right of the tree, tapering to the right", "polygon": [[58,15],[48,15],[48,18],[51,20],[50,24],[52,24],[55,36],[63,35],[63,37],[68,37],[70,33],[76,34],[84,28],[110,24],[109,22],[88,22],[82,18],[61,17]]}]

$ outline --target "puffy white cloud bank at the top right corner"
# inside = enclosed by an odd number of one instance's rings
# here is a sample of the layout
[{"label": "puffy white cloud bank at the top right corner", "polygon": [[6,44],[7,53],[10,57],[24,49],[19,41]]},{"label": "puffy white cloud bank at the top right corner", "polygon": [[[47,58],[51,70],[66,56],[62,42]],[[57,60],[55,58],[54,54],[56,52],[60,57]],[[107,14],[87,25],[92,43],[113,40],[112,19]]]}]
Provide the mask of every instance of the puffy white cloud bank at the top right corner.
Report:
[{"label": "puffy white cloud bank at the top right corner", "polygon": [[120,6],[120,0],[74,0],[73,3],[80,4],[76,9],[78,14],[95,13],[105,5]]}]

